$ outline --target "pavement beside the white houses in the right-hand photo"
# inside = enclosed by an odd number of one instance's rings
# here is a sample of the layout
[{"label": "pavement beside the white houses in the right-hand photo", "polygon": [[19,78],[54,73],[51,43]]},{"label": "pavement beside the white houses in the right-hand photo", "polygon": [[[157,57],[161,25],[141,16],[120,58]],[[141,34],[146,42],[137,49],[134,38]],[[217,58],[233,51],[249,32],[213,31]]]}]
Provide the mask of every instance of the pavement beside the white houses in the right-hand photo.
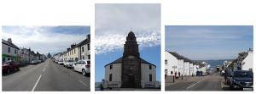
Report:
[{"label": "pavement beside the white houses in the right-hand photo", "polygon": [[169,75],[166,75],[166,79],[164,79],[164,86],[172,86],[176,83],[179,83],[179,82],[183,82],[185,80],[189,80],[191,78],[195,78],[196,76],[183,76],[183,80],[182,80],[182,76],[178,77],[178,79],[174,78],[174,82],[173,82],[173,78],[172,77],[169,77]]}]

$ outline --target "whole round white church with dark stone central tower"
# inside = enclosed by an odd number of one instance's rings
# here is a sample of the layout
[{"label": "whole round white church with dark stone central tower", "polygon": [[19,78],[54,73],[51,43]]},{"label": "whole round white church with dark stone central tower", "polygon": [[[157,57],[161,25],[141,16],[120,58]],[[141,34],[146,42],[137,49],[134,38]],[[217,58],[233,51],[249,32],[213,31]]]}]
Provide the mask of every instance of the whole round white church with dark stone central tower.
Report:
[{"label": "whole round white church with dark stone central tower", "polygon": [[140,88],[143,82],[156,82],[156,66],[140,58],[132,31],[126,37],[124,49],[123,57],[105,65],[105,81],[119,82],[123,88]]}]

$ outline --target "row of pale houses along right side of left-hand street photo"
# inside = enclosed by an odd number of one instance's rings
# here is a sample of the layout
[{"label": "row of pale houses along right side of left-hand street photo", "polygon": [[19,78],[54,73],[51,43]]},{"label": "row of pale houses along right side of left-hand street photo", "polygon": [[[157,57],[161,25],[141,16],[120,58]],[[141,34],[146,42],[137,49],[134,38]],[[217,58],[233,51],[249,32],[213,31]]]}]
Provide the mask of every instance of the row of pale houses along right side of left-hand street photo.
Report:
[{"label": "row of pale houses along right side of left-hand street photo", "polygon": [[53,58],[57,60],[73,59],[75,61],[90,59],[90,34],[86,36],[84,41],[78,44],[73,43],[71,47],[67,48],[67,51],[54,54]]}]

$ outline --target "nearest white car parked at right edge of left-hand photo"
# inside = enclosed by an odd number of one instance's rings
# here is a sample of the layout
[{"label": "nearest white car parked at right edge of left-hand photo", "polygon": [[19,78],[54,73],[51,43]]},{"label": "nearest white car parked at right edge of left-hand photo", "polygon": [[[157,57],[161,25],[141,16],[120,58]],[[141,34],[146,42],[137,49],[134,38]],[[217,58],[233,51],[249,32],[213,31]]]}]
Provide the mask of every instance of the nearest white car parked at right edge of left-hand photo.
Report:
[{"label": "nearest white car parked at right edge of left-hand photo", "polygon": [[82,72],[82,75],[87,75],[90,73],[90,59],[79,60],[77,63],[73,64],[73,71]]}]

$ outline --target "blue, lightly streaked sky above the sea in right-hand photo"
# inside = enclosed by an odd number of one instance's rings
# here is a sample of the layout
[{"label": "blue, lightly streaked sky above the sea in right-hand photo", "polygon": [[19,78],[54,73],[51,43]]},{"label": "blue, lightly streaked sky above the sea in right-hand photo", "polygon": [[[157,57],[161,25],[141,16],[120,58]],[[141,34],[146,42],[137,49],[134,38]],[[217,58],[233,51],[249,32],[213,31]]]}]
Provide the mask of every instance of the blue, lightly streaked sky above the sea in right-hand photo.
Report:
[{"label": "blue, lightly streaked sky above the sea in right-hand photo", "polygon": [[192,60],[233,59],[253,49],[253,25],[164,25],[164,51]]}]

